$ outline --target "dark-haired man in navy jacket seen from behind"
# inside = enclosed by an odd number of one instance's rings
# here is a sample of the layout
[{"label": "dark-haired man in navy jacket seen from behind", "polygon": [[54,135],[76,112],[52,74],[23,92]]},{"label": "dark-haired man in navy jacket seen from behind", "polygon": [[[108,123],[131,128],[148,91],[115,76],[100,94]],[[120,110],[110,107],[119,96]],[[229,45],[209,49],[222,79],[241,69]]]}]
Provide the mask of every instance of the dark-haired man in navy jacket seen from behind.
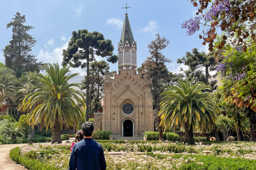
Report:
[{"label": "dark-haired man in navy jacket seen from behind", "polygon": [[94,125],[92,122],[82,124],[84,139],[75,143],[69,160],[69,170],[102,170],[106,169],[103,148],[92,139]]}]

